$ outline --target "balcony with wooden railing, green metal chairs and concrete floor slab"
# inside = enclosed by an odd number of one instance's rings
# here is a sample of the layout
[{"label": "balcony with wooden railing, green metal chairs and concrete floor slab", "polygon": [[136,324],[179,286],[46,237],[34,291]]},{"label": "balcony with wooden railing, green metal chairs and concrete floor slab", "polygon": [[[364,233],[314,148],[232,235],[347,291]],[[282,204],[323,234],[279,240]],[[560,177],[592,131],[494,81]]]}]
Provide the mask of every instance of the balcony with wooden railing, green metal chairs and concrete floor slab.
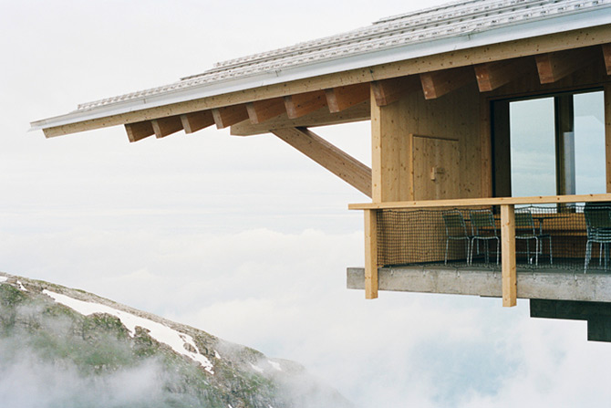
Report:
[{"label": "balcony with wooden railing, green metal chairs and concrete floor slab", "polygon": [[[611,194],[350,204],[365,212],[366,266],[348,268],[347,287],[367,298],[378,290],[498,297],[506,307],[517,298],[611,302],[611,244],[588,243],[584,212],[603,202]],[[464,238],[444,214],[463,220]],[[490,222],[476,225],[478,214]]]}]

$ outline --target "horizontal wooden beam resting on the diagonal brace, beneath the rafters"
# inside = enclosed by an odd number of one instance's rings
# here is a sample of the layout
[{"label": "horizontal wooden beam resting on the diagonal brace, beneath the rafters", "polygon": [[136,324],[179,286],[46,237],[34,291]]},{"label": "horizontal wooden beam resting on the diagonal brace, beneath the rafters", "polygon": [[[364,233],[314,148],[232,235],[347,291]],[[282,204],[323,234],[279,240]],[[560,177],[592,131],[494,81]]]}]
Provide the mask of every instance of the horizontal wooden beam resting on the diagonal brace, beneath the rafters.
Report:
[{"label": "horizontal wooden beam resting on the diagonal brace, beneath the rafters", "polygon": [[234,136],[251,136],[254,134],[268,133],[273,129],[335,125],[338,123],[368,120],[369,114],[369,101],[366,100],[365,102],[361,102],[356,106],[337,113],[329,113],[328,109],[321,108],[297,119],[289,119],[287,114],[283,113],[280,116],[276,116],[274,119],[266,120],[259,124],[243,121],[233,125],[231,133]]}]

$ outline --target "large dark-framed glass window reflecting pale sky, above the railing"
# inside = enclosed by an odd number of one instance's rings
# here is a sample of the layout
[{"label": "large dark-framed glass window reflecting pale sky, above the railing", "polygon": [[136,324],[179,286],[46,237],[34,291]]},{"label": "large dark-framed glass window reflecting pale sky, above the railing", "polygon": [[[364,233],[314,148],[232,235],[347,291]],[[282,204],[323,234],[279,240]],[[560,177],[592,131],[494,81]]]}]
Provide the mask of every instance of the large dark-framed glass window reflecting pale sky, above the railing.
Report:
[{"label": "large dark-framed glass window reflecting pale sky, above the railing", "polygon": [[497,196],[606,192],[602,91],[492,106]]}]

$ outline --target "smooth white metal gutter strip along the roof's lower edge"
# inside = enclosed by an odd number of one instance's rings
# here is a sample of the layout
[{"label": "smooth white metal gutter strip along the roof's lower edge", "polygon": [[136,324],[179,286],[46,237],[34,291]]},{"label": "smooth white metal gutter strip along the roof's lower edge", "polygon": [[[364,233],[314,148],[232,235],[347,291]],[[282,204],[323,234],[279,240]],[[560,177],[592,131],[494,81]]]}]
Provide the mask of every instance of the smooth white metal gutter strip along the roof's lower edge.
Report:
[{"label": "smooth white metal gutter strip along the roof's lower edge", "polygon": [[195,99],[228,94],[245,89],[256,89],[268,85],[291,82],[298,79],[314,78],[326,74],[344,72],[351,69],[375,67],[412,58],[429,57],[436,54],[482,47],[491,44],[541,37],[550,34],[573,31],[594,26],[604,26],[611,22],[611,8],[595,9],[569,16],[530,21],[513,26],[503,26],[481,32],[464,33],[461,36],[445,37],[423,41],[408,46],[387,48],[347,58],[327,59],[309,65],[287,68],[281,71],[264,72],[249,77],[232,78],[216,81],[212,84],[186,89],[175,89],[140,99],[115,102],[108,106],[91,110],[75,110],[30,123],[30,131],[45,130],[87,120],[106,118],[136,110],[147,110]]}]

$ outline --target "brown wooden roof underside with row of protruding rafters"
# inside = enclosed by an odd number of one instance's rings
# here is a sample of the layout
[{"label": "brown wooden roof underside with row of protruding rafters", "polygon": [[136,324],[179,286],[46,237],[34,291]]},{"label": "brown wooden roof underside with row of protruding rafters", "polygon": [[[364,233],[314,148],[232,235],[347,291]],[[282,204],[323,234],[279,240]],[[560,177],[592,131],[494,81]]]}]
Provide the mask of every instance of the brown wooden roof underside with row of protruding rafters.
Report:
[{"label": "brown wooden roof underside with row of protruding rafters", "polygon": [[140,141],[152,135],[163,138],[179,131],[201,131],[212,125],[218,129],[231,127],[233,135],[247,136],[277,129],[368,120],[371,93],[378,106],[385,106],[412,92],[419,92],[425,99],[437,99],[474,83],[481,92],[490,92],[520,78],[534,67],[542,85],[553,84],[581,68],[603,62],[606,74],[611,75],[611,44],[255,100],[128,123],[125,128],[129,141]]}]

